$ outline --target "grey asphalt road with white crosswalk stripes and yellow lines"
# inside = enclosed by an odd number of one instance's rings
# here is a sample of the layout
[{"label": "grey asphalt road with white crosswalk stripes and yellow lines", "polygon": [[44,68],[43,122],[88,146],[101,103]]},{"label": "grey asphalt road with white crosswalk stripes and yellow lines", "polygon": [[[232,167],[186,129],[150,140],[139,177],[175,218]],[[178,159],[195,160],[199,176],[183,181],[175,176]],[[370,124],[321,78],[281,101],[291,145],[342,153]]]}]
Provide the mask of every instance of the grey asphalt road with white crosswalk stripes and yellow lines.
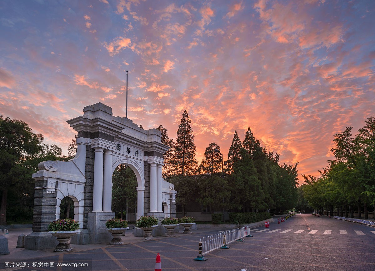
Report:
[{"label": "grey asphalt road with white crosswalk stripes and yellow lines", "polygon": [[[162,270],[375,270],[375,228],[311,214],[297,214],[269,228],[252,229],[254,237],[233,242],[230,249],[216,249],[198,256],[201,237],[217,231],[193,231],[176,237],[27,260],[28,267],[11,270],[154,270],[160,253]],[[124,237],[125,241],[126,237]],[[3,255],[5,256],[5,255]],[[3,257],[2,256],[2,257]],[[89,262],[89,268],[37,267],[48,262]],[[31,266],[34,264],[34,267]]]}]

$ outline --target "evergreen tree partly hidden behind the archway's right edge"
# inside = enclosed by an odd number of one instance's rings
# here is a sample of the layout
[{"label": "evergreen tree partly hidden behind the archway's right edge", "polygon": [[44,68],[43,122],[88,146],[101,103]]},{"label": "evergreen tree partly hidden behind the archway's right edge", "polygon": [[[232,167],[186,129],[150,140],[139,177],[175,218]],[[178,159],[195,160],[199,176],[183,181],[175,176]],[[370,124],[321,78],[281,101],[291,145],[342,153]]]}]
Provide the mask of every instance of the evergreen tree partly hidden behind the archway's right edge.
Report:
[{"label": "evergreen tree partly hidden behind the archway's right edge", "polygon": [[169,139],[168,130],[165,129],[161,124],[156,129],[162,133],[162,143],[171,147],[163,154],[164,166],[162,168],[162,175],[163,178],[168,178],[177,174],[174,166],[175,142],[173,139]]}]

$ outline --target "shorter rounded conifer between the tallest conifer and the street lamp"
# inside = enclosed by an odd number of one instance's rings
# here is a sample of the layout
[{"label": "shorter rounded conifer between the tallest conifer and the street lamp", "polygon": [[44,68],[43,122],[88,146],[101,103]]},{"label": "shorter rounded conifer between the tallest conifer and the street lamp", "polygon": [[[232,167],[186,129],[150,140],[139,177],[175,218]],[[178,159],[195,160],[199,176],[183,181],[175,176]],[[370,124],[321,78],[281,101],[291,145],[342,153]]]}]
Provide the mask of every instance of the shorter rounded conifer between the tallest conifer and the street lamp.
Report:
[{"label": "shorter rounded conifer between the tallest conifer and the street lamp", "polygon": [[208,144],[208,147],[204,151],[204,158],[198,167],[198,172],[201,174],[213,174],[221,171],[222,161],[220,153],[214,150],[219,150],[220,147],[215,142]]}]

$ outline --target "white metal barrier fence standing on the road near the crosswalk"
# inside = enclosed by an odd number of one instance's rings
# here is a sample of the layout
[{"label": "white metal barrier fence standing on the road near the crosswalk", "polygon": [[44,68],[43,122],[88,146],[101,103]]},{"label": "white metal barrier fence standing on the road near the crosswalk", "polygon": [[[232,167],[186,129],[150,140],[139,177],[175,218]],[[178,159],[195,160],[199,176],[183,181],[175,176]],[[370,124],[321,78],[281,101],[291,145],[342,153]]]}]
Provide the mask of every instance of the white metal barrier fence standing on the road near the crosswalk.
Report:
[{"label": "white metal barrier fence standing on the road near the crosswalk", "polygon": [[250,234],[249,226],[203,237],[199,241],[199,255],[194,261],[207,261],[207,258],[204,257],[205,254],[219,248],[229,249],[227,244],[234,241],[243,242],[245,241],[242,239],[243,237],[253,237]]}]

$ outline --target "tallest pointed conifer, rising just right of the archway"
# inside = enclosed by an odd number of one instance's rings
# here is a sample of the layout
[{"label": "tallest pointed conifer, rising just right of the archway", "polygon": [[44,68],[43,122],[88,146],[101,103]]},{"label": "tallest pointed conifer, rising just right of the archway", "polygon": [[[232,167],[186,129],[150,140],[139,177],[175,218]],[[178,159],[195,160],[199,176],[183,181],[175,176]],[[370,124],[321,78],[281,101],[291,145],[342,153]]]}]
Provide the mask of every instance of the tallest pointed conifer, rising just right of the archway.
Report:
[{"label": "tallest pointed conifer, rising just right of the archway", "polygon": [[195,159],[196,147],[193,129],[190,123],[191,120],[185,109],[182,114],[181,124],[178,125],[174,159],[177,174],[182,176],[195,174],[198,168],[198,161]]}]

